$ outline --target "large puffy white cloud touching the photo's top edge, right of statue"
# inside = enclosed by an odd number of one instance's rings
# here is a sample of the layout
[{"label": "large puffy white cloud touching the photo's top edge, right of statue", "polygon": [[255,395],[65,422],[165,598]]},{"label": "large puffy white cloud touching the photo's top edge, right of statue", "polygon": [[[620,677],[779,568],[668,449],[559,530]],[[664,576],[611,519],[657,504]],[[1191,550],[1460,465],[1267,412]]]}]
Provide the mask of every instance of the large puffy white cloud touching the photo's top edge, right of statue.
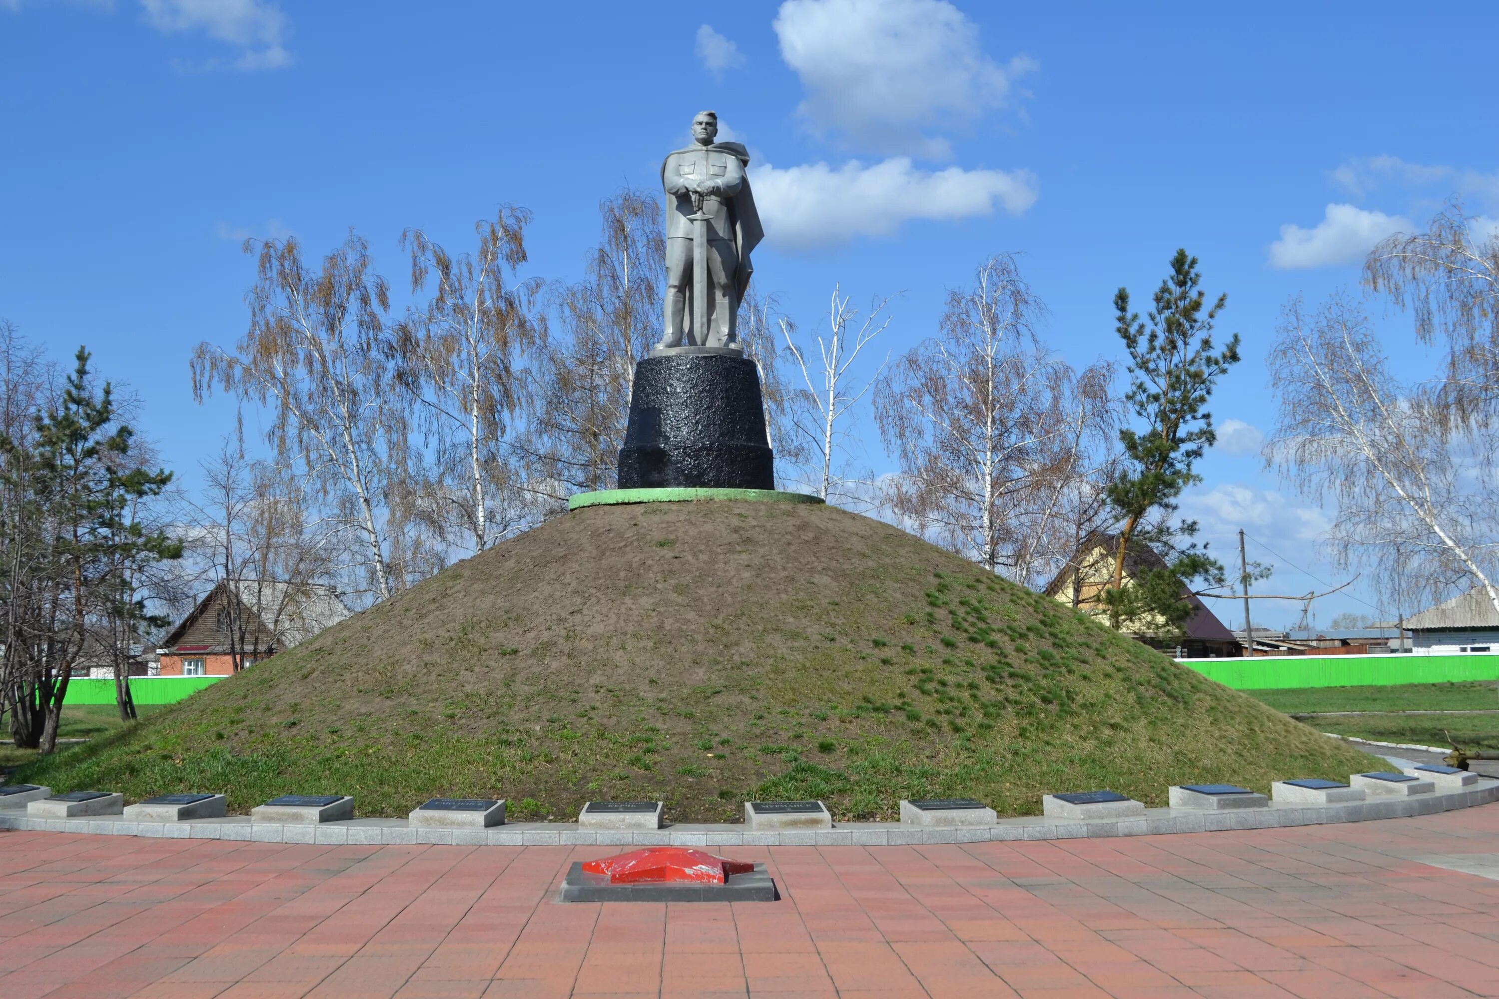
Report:
[{"label": "large puffy white cloud touching the photo's top edge, right of statue", "polygon": [[1003,106],[1036,69],[985,55],[979,28],[946,0],[785,0],[773,27],[811,129],[877,153],[950,157],[947,139],[923,129]]}]

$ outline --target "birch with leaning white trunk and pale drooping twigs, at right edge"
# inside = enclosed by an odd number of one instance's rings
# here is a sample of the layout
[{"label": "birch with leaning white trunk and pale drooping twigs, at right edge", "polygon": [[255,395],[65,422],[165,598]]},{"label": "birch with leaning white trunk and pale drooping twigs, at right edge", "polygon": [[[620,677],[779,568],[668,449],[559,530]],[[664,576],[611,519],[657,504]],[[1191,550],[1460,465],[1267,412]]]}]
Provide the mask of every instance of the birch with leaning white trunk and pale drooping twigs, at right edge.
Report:
[{"label": "birch with leaning white trunk and pale drooping twigs, at right edge", "polygon": [[1369,316],[1342,294],[1310,312],[1291,300],[1268,362],[1267,455],[1304,496],[1336,500],[1334,557],[1406,593],[1478,587],[1499,613],[1496,448],[1487,431],[1447,431],[1445,379],[1397,379]]}]

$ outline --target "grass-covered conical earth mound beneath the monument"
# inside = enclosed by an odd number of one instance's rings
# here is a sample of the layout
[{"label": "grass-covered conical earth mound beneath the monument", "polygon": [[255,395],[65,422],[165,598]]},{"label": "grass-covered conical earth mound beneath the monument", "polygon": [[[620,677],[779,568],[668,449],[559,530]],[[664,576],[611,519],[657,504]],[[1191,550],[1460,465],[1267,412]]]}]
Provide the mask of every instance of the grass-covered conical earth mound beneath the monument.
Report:
[{"label": "grass-covered conical earth mound beneath the monument", "polygon": [[57,789],[352,794],[361,815],[504,797],[514,819],[747,798],[890,819],[1049,791],[1259,791],[1376,764],[1045,596],[829,506],[561,517],[316,640],[25,767]]}]

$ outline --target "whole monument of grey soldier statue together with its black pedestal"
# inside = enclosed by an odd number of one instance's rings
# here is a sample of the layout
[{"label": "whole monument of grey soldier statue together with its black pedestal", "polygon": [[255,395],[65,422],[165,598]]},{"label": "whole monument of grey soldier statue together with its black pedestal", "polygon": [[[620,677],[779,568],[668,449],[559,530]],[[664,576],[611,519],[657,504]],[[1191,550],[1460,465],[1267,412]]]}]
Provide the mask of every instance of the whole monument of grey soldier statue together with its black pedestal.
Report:
[{"label": "whole monument of grey soldier statue together with its black pedestal", "polygon": [[619,488],[775,488],[760,374],[736,328],[763,232],[750,153],[717,136],[718,115],[699,114],[694,145],[661,165],[666,333],[636,365]]}]

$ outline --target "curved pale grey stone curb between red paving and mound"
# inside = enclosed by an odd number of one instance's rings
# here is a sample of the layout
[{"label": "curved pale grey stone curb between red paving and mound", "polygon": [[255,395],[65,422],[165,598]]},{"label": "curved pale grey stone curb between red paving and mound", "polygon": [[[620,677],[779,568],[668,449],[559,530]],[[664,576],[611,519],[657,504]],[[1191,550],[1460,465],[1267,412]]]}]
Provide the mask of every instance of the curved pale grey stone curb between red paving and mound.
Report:
[{"label": "curved pale grey stone curb between red paving and mound", "polygon": [[319,843],[328,846],[902,846],[923,843],[988,843],[1015,840],[1102,839],[1291,828],[1337,822],[1367,822],[1433,815],[1499,801],[1499,780],[1484,777],[1472,788],[1438,789],[1409,798],[1376,798],[1342,804],[1270,804],[1262,809],[1204,812],[1145,809],[1142,818],[1054,819],[1025,816],[992,825],[958,828],[913,827],[896,822],[841,822],[830,830],[751,831],[742,824],[676,824],[663,830],[586,830],[576,822],[514,822],[487,830],[412,828],[406,819],[349,819],[321,825],[252,822],[234,815],[186,822],[129,822],[121,816],[33,819],[24,809],[0,809],[0,830],[31,833],[91,833],[157,839],[229,839],[256,843]]}]

